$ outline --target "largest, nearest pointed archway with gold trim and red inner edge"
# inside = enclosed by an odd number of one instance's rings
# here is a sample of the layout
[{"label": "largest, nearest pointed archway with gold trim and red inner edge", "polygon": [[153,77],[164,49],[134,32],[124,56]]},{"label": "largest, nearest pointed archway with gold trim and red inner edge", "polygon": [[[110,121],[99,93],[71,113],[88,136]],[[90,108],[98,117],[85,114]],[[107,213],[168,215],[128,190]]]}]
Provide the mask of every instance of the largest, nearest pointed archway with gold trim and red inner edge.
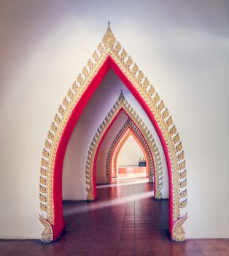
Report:
[{"label": "largest, nearest pointed archway with gold trim and red inner edge", "polygon": [[77,81],[71,86],[61,103],[58,113],[47,134],[42,152],[42,167],[39,178],[40,220],[44,225],[42,241],[53,241],[64,229],[62,206],[62,168],[71,132],[88,100],[112,68],[131,91],[150,118],[160,138],[166,156],[169,179],[169,230],[174,241],[185,239],[182,227],[187,215],[181,208],[187,205],[187,180],[185,154],[173,119],[154,87],[133,63],[133,60],[108,28],[102,42],[82,69]]}]

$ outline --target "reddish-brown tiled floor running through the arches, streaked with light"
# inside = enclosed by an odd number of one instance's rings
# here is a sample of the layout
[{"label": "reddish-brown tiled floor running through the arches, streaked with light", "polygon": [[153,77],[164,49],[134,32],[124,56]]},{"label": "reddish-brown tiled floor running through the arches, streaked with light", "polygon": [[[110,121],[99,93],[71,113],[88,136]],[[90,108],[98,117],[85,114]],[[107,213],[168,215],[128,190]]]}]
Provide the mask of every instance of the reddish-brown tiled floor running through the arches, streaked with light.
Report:
[{"label": "reddish-brown tiled floor running through the arches, streaked with light", "polygon": [[52,244],[36,240],[0,240],[1,255],[229,255],[229,239],[168,237],[168,200],[152,198],[146,178],[120,179],[98,186],[93,203],[66,201],[66,231]]}]

